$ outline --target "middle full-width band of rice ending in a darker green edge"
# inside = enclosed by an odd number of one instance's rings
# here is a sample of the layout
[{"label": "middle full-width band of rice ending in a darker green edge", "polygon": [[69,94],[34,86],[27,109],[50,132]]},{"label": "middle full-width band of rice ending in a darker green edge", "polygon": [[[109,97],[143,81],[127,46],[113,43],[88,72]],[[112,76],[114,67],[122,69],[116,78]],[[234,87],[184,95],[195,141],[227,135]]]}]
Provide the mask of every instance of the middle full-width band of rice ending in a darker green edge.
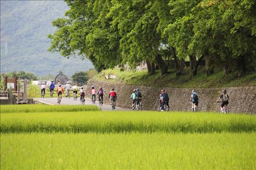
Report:
[{"label": "middle full-width band of rice ending in a darker green edge", "polygon": [[[26,110],[24,110],[26,111]],[[1,113],[1,133],[213,133],[256,131],[256,117],[193,112]]]}]

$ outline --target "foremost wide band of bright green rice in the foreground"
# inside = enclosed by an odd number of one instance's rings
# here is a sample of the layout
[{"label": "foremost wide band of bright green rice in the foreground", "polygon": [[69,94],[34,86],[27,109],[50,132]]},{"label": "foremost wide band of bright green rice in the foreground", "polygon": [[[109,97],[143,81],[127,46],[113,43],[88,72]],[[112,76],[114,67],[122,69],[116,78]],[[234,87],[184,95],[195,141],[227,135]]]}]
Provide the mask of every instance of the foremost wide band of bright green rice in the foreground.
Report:
[{"label": "foremost wide band of bright green rice in the foreground", "polygon": [[1,134],[1,169],[255,169],[256,133]]}]

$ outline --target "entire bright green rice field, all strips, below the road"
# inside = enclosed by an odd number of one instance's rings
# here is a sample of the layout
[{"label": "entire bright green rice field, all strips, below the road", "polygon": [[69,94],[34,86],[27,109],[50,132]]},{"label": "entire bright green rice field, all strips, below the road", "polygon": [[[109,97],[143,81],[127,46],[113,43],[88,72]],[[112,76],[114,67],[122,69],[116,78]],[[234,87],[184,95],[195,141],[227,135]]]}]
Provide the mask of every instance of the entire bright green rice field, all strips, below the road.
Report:
[{"label": "entire bright green rice field, all strips, below the road", "polygon": [[255,169],[256,117],[1,105],[1,169]]}]

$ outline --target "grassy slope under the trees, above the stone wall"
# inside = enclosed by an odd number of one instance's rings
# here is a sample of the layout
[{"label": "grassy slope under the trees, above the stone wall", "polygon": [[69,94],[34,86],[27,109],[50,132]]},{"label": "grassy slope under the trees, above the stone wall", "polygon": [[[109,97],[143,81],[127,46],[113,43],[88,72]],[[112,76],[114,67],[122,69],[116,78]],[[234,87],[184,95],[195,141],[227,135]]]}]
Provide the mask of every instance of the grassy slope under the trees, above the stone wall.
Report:
[{"label": "grassy slope under the trees, above the stone wall", "polygon": [[202,69],[198,74],[189,78],[188,70],[181,76],[176,76],[175,70],[170,70],[170,74],[161,75],[157,71],[155,75],[148,76],[147,71],[119,71],[118,69],[104,70],[94,77],[94,79],[106,81],[102,73],[117,75],[117,79],[108,80],[111,82],[122,82],[137,86],[151,87],[178,87],[178,88],[210,88],[210,87],[240,87],[256,86],[256,73],[236,78],[235,73],[230,73],[226,78],[222,71],[216,71],[210,76],[206,76]]}]

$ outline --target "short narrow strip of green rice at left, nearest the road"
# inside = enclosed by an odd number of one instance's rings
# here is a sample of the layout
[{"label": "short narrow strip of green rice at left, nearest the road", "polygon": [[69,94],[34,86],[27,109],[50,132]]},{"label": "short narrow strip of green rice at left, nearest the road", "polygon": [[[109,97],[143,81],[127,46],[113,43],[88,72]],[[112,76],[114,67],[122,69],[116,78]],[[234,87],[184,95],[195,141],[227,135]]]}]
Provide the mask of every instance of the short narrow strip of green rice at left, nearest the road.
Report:
[{"label": "short narrow strip of green rice at left, nearest the road", "polygon": [[[1,113],[34,113],[34,112],[79,112],[79,111],[100,111],[95,105],[1,105]],[[2,114],[1,114],[2,116]]]}]

